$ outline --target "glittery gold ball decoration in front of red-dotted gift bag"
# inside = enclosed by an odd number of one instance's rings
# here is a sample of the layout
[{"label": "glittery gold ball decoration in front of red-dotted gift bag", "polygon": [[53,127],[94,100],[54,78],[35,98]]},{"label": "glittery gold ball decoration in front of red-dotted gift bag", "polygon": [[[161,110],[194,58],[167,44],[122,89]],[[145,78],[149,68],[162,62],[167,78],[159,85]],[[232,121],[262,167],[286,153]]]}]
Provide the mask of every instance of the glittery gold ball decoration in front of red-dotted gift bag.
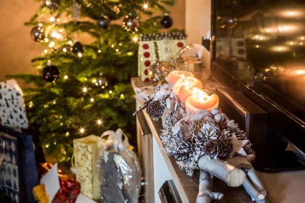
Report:
[{"label": "glittery gold ball decoration in front of red-dotted gift bag", "polygon": [[157,61],[148,68],[148,78],[154,85],[166,84],[169,72],[175,70],[175,65],[168,61]]}]

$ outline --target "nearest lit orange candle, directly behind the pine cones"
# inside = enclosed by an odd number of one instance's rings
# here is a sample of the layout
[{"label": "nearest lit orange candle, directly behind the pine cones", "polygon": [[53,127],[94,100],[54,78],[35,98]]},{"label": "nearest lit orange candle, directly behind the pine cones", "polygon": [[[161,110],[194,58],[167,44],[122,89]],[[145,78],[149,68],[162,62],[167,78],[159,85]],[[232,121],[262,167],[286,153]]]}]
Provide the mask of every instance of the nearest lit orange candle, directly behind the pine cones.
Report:
[{"label": "nearest lit orange candle, directly behind the pine cones", "polygon": [[186,100],[186,110],[187,113],[197,112],[199,110],[208,110],[210,111],[213,108],[218,108],[219,98],[216,94],[210,96],[198,92],[189,96]]}]

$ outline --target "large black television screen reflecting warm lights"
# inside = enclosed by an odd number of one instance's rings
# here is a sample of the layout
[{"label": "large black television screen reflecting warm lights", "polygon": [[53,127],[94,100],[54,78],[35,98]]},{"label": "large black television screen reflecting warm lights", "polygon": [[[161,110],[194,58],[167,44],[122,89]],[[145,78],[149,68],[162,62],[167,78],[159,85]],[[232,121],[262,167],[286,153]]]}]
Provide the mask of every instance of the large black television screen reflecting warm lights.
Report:
[{"label": "large black television screen reflecting warm lights", "polygon": [[211,26],[212,76],[251,89],[281,112],[270,117],[273,129],[304,141],[305,1],[214,0]]}]

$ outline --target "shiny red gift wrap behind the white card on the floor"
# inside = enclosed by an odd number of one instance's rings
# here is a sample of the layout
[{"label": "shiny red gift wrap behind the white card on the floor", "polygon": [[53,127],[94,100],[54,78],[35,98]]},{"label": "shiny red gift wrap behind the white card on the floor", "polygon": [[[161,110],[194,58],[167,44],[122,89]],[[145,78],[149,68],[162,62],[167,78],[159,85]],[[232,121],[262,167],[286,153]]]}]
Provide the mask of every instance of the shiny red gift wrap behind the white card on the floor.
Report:
[{"label": "shiny red gift wrap behind the white card on the floor", "polygon": [[[37,167],[39,179],[41,179],[52,167],[52,163],[40,163]],[[80,183],[75,179],[70,178],[67,174],[64,174],[60,169],[58,169],[58,177],[60,189],[53,198],[52,203],[74,203],[80,193]]]}]

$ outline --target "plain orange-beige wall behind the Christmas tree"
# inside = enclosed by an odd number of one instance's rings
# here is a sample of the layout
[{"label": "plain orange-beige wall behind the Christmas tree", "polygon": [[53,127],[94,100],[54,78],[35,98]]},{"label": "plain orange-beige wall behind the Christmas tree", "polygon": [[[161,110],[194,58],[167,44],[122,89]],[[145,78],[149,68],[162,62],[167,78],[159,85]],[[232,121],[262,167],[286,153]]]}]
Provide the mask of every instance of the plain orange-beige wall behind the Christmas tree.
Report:
[{"label": "plain orange-beige wall behind the Christmas tree", "polygon": [[[31,18],[41,3],[34,0],[0,0],[0,81],[5,75],[17,73],[35,73],[31,58],[43,52],[46,45],[31,39],[32,26],[24,22]],[[185,29],[185,0],[171,8],[174,27]],[[21,86],[23,83],[18,81]]]}]

